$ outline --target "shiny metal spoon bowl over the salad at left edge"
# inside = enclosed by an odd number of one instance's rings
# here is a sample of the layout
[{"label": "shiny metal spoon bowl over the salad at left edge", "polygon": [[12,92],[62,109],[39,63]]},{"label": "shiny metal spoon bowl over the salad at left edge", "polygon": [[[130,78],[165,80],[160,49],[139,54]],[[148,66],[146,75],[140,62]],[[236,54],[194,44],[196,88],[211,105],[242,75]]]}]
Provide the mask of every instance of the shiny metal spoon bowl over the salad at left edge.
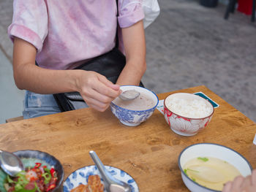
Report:
[{"label": "shiny metal spoon bowl over the salad at left edge", "polygon": [[24,166],[17,155],[0,150],[0,166],[7,174],[15,177],[18,172],[24,171]]}]

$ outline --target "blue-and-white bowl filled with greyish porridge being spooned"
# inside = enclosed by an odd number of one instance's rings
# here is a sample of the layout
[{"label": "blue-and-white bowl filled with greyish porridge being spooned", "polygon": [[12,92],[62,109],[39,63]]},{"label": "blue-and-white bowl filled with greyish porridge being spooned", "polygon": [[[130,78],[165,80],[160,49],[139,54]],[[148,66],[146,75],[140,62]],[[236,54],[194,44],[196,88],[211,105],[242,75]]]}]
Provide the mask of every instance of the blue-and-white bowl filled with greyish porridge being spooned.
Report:
[{"label": "blue-and-white bowl filled with greyish porridge being spooned", "polygon": [[135,90],[140,93],[136,99],[124,101],[117,97],[110,104],[113,114],[126,126],[138,126],[147,120],[158,104],[157,95],[146,88],[135,85],[123,85],[121,91]]}]

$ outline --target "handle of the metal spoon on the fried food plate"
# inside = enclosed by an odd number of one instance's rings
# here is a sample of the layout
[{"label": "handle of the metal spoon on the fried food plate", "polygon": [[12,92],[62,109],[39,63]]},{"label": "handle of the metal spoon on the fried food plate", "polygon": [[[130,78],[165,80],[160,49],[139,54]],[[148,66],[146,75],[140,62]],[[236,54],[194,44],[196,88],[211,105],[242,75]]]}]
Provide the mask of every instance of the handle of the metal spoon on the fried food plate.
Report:
[{"label": "handle of the metal spoon on the fried food plate", "polygon": [[99,169],[99,172],[102,175],[102,179],[105,181],[105,185],[107,185],[106,188],[108,188],[109,185],[113,183],[113,181],[110,179],[111,175],[108,173],[108,171],[105,170],[105,166],[102,164],[102,161],[100,161],[98,155],[93,150],[91,150],[89,154]]}]

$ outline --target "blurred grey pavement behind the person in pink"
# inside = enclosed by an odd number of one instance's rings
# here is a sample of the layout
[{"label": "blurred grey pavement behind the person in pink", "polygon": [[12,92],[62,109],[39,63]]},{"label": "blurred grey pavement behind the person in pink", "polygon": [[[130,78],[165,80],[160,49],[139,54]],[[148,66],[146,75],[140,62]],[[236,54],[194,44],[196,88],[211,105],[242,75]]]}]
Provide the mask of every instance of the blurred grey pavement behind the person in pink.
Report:
[{"label": "blurred grey pavement behind the person in pink", "polygon": [[[256,23],[241,1],[225,20],[227,2],[159,0],[160,15],[146,28],[143,83],[155,93],[206,85],[256,122]],[[0,123],[23,111],[24,91],[12,77],[11,22],[12,1],[1,0]]]}]

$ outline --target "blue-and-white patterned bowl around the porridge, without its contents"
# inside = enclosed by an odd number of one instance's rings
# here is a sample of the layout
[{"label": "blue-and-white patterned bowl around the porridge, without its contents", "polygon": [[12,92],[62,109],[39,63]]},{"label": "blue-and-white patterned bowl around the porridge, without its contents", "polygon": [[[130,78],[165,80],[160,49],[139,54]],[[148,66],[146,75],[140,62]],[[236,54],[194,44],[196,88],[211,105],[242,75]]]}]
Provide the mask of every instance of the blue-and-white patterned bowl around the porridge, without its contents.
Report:
[{"label": "blue-and-white patterned bowl around the porridge, without its contents", "polygon": [[142,88],[135,85],[123,85],[120,87],[122,91],[127,91],[130,89],[133,89],[135,91],[139,91],[140,93],[145,94],[146,96],[149,96],[154,101],[154,107],[148,109],[148,110],[127,110],[122,107],[119,107],[114,103],[114,101],[110,104],[110,109],[113,112],[114,115],[116,115],[116,118],[120,120],[121,123],[123,123],[126,126],[138,126],[143,121],[147,120],[154,112],[154,110],[157,107],[158,104],[158,97],[157,95],[149,91],[146,88]]}]

